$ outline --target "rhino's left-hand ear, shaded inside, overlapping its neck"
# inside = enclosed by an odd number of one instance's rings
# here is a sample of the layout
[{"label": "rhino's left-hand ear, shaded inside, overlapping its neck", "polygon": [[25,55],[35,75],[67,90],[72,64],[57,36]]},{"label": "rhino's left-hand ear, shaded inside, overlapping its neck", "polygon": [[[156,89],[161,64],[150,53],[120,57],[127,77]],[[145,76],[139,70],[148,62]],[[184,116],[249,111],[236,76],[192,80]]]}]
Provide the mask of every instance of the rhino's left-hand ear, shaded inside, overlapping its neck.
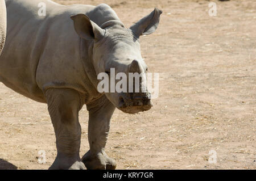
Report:
[{"label": "rhino's left-hand ear, shaded inside, overlapping its neck", "polygon": [[71,16],[77,34],[85,40],[99,40],[104,36],[105,30],[92,22],[85,14]]}]

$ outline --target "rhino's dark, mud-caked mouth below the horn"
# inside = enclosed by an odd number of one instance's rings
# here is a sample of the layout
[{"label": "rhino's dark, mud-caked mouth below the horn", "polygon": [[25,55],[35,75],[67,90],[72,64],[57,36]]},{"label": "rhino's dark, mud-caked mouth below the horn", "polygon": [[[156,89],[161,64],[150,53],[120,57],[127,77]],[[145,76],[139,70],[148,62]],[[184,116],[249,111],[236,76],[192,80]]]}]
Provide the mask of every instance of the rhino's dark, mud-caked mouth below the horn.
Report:
[{"label": "rhino's dark, mud-caked mouth below the horn", "polygon": [[125,113],[138,113],[148,111],[152,107],[151,99],[145,96],[133,96],[127,99],[127,96],[120,96],[118,109]]}]

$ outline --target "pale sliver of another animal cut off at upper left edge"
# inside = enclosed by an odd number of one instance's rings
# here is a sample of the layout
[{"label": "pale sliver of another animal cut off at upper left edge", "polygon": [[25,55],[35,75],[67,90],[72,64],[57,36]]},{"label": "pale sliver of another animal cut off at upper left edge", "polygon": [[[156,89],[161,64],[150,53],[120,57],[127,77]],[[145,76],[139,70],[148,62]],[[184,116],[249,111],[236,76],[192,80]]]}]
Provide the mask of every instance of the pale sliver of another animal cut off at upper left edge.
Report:
[{"label": "pale sliver of another animal cut off at upper left edge", "polygon": [[5,0],[0,0],[0,55],[5,45],[6,36],[6,7]]}]

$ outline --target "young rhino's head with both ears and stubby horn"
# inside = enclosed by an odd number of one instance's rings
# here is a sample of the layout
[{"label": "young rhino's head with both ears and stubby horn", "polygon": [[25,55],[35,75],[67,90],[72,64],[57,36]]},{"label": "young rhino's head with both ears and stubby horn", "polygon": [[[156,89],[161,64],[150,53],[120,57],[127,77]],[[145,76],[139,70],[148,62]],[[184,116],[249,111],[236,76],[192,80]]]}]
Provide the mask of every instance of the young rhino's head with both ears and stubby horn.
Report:
[{"label": "young rhino's head with both ears and stubby horn", "polygon": [[[127,91],[104,92],[110,102],[123,112],[137,113],[150,110],[152,107],[150,92],[145,83],[147,65],[141,55],[139,37],[156,30],[160,14],[162,11],[155,9],[130,28],[125,28],[119,20],[109,20],[98,26],[84,14],[71,17],[77,34],[82,39],[93,41],[92,61],[96,74],[107,73],[110,77],[112,74],[115,77],[118,73],[127,75]],[[114,73],[112,73],[113,69]],[[130,89],[129,73],[141,75],[139,83],[137,82],[139,91],[135,90],[134,78],[130,80],[134,87],[131,91],[128,90]],[[115,84],[118,81],[115,79]]]}]

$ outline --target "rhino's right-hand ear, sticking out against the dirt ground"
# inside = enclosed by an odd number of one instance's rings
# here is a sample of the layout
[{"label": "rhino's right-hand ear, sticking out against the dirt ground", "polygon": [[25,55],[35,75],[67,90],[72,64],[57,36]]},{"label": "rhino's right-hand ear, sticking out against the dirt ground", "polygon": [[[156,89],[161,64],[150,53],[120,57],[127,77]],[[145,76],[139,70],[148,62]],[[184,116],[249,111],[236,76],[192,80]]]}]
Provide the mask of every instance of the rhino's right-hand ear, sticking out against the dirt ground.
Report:
[{"label": "rhino's right-hand ear, sticking out against the dirt ground", "polygon": [[152,11],[149,15],[145,16],[133,26],[131,26],[131,31],[133,31],[137,37],[153,33],[158,27],[160,14],[162,14],[162,11],[155,8],[155,10]]}]

